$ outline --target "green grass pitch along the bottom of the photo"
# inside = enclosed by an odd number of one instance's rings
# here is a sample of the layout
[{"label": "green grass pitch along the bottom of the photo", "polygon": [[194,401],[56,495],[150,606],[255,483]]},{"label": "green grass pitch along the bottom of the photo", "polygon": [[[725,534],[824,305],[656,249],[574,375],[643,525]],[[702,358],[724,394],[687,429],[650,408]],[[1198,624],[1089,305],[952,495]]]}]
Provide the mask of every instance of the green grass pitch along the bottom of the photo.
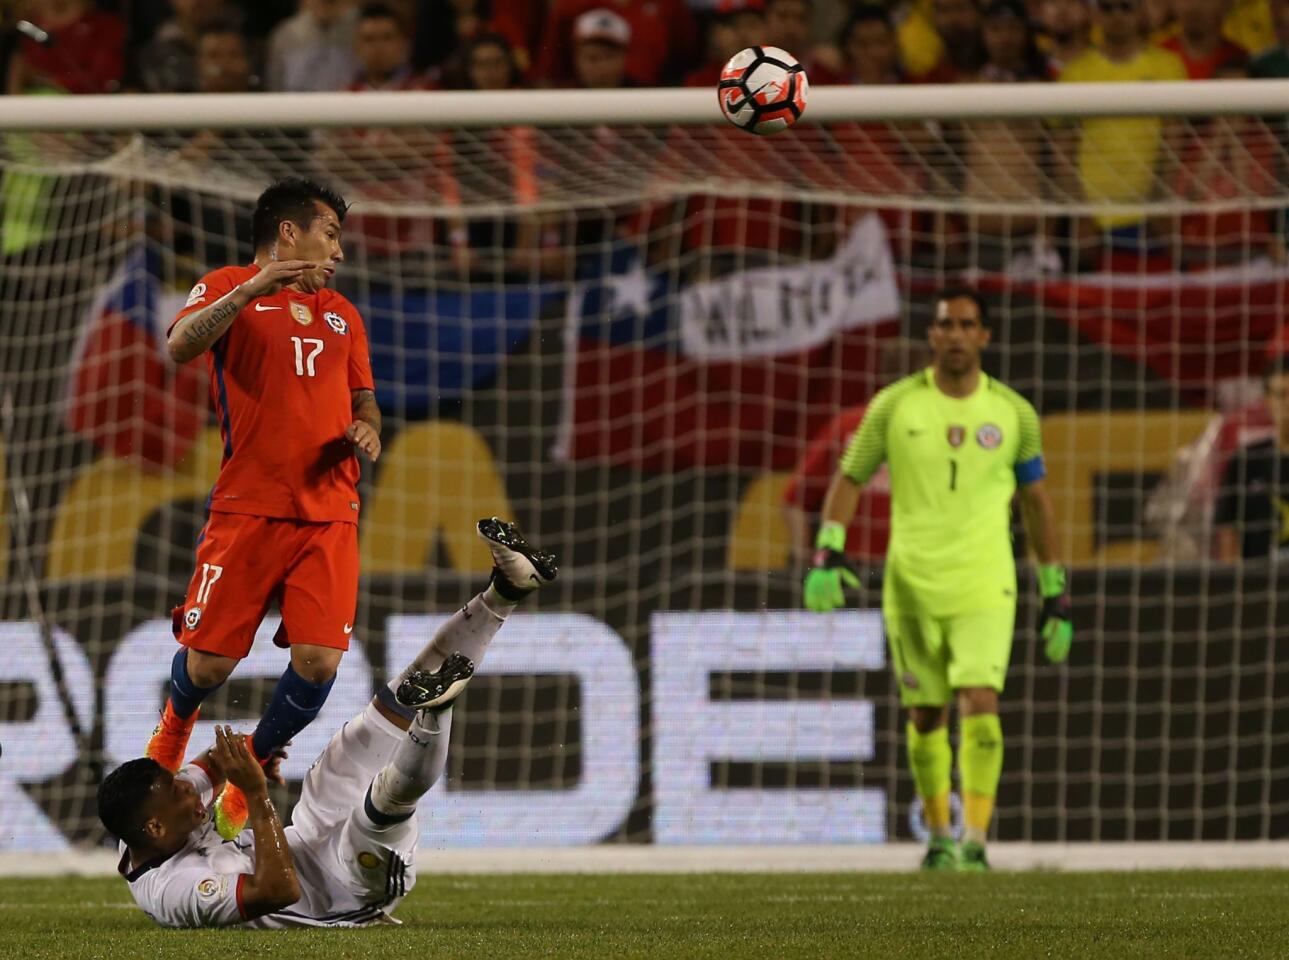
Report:
[{"label": "green grass pitch along the bottom of the photo", "polygon": [[423,875],[397,915],[369,930],[160,930],[119,880],[10,879],[0,957],[1289,956],[1281,872]]}]

